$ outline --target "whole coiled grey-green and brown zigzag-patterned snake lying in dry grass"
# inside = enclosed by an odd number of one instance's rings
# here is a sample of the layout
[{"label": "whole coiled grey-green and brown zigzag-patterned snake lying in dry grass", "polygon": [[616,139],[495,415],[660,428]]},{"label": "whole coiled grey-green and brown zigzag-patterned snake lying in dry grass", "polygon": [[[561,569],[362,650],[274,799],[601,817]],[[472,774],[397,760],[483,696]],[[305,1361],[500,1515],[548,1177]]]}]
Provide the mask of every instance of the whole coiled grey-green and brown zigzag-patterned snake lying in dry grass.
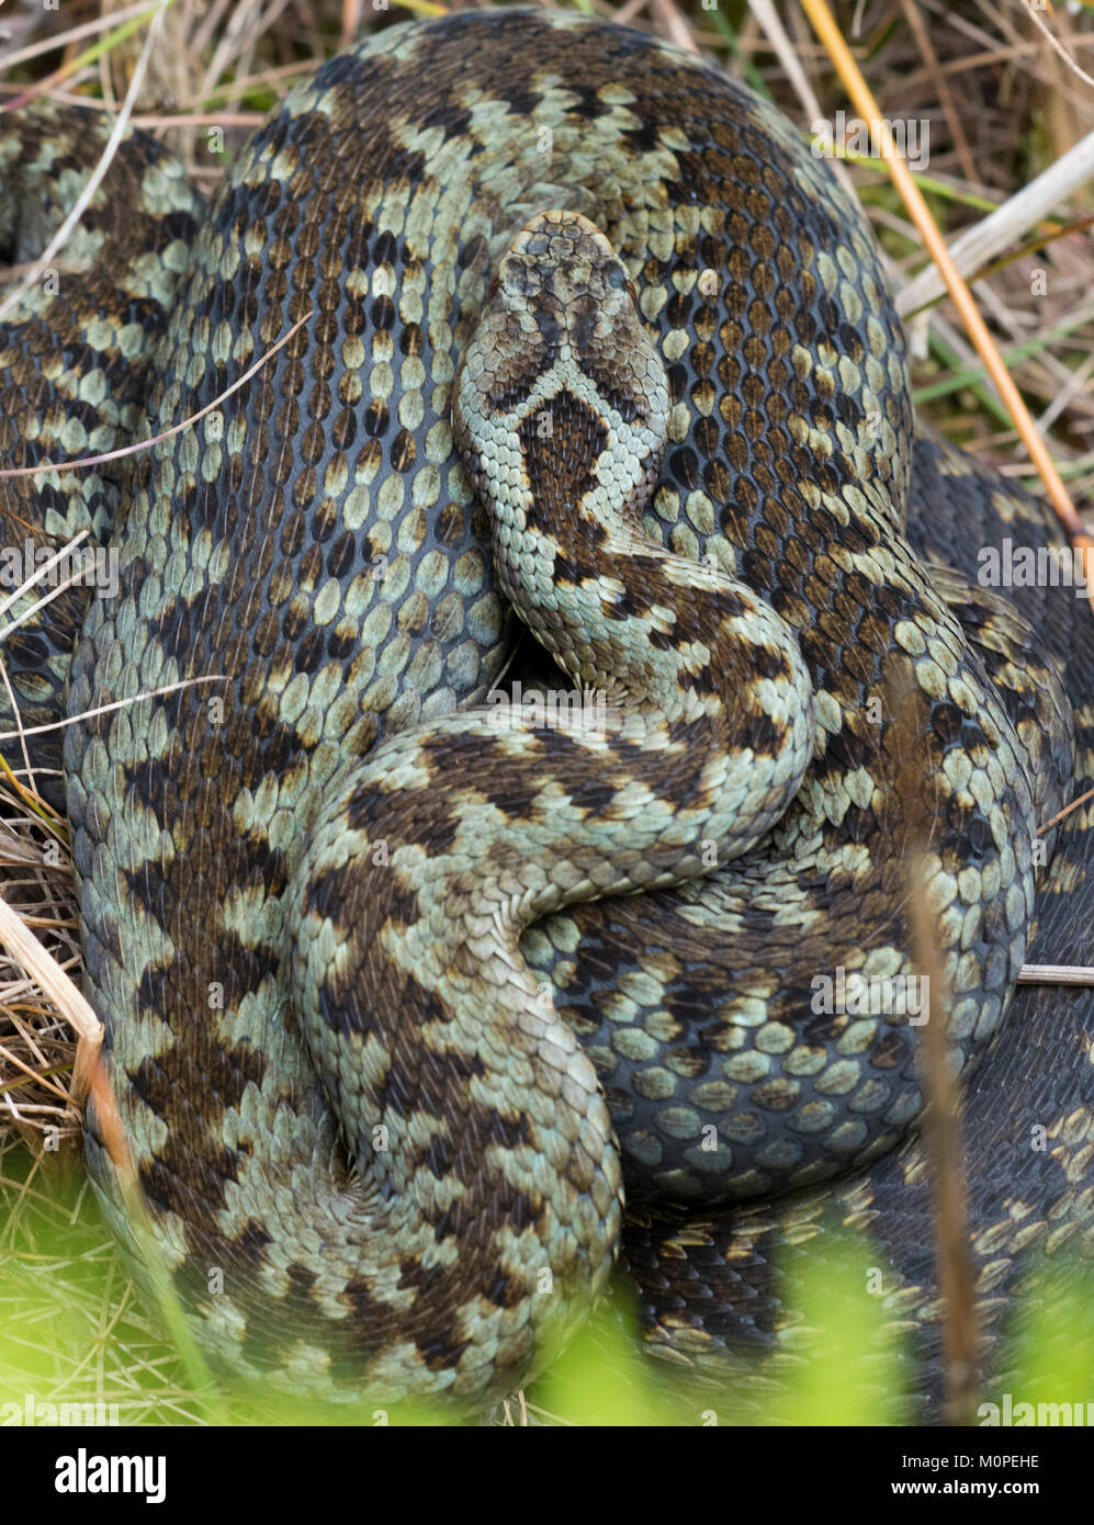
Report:
[{"label": "whole coiled grey-green and brown zigzag-patterned snake lying in dry grass", "polygon": [[[104,140],[5,119],[9,262]],[[734,1371],[847,1232],[931,1412],[917,857],[998,1372],[1024,1267],[1094,1254],[1091,999],[1015,994],[1091,962],[1089,807],[1038,825],[1092,782],[1094,622],[980,586],[1060,534],[915,424],[865,220],[789,124],[587,17],[391,26],[208,206],[127,137],[0,369],[6,464],[165,435],[0,480],[9,543],[85,529],[119,572],[8,636],[5,729],[67,706],[63,758],[6,756],[67,798],[211,1357],[468,1409],[618,1263],[650,1351]],[[905,1002],[818,1006],[836,974]],[[85,1147],[146,1279],[95,1106]]]}]

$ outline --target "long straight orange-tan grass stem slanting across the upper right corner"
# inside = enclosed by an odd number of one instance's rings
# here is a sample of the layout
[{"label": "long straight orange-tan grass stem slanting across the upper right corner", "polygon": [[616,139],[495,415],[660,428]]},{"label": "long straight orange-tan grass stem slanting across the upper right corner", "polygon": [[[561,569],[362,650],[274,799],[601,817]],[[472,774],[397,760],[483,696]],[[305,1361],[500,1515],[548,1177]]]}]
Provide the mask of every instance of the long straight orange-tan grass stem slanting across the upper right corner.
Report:
[{"label": "long straight orange-tan grass stem slanting across the upper right corner", "polygon": [[854,63],[847,43],[844,41],[839,27],[832,18],[825,0],[801,0],[801,6],[809,17],[813,30],[819,37],[821,43],[829,52],[832,63],[844,82],[854,110],[871,124],[877,124],[880,128],[885,163],[890,172],[893,185],[897,188],[900,198],[908,207],[908,214],[915,223],[915,227],[923,238],[928,253],[938,267],[941,278],[949,291],[954,307],[961,314],[961,322],[964,323],[969,339],[977,346],[980,358],[984,361],[984,368],[995,383],[995,387],[1010,413],[1018,433],[1022,438],[1025,448],[1030,453],[1030,461],[1038,468],[1041,480],[1045,483],[1045,491],[1056,509],[1060,523],[1071,537],[1071,543],[1083,552],[1083,560],[1088,567],[1088,578],[1091,584],[1091,599],[1094,599],[1094,541],[1089,538],[1083,525],[1076,512],[1074,503],[1063,486],[1059,471],[1053,464],[1045,442],[1038,433],[1038,427],[1030,418],[1028,409],[1022,401],[1022,395],[1015,386],[1010,372],[1004,366],[999,351],[995,348],[995,340],[987,331],[984,319],[977,310],[977,303],[972,299],[969,287],[961,279],[961,274],[946,249],[946,241],[943,239],[938,227],[928,210],[928,204],[923,200],[919,186],[915,185],[908,165],[903,162],[897,146],[893,140],[893,134],[888,124],[882,117],[882,113],[874,101],[870,87],[867,85],[859,66]]}]

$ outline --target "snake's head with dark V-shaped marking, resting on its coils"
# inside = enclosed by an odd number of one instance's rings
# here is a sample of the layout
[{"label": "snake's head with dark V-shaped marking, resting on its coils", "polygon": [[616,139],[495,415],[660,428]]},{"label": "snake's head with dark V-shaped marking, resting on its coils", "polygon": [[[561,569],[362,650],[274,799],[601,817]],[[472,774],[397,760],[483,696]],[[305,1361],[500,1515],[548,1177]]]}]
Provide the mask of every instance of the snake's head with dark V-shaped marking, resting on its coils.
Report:
[{"label": "snake's head with dark V-shaped marking, resting on its coils", "polygon": [[665,447],[668,381],[623,261],[578,212],[534,217],[502,256],[456,375],[453,425],[496,537],[638,523]]}]

